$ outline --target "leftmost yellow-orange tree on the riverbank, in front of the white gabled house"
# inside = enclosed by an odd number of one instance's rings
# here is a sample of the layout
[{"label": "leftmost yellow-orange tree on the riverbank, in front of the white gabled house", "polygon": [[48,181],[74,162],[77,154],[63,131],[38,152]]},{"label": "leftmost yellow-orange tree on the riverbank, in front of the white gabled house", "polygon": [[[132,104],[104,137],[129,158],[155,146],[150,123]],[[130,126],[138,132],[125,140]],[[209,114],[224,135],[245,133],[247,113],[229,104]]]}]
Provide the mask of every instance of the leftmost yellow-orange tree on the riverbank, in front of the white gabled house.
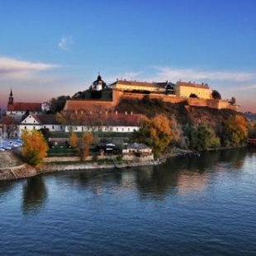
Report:
[{"label": "leftmost yellow-orange tree on the riverbank, in front of the white gabled house", "polygon": [[26,161],[40,167],[47,154],[48,144],[39,130],[22,130],[21,139],[23,140],[22,156]]}]

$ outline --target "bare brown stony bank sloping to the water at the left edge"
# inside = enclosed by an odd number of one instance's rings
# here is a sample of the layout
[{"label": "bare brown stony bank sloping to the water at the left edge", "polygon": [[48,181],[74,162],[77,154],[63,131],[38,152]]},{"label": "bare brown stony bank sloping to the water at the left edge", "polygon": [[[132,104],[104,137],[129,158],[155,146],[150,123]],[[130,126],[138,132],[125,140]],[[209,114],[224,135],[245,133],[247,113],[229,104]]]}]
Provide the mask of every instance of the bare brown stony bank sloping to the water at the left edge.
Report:
[{"label": "bare brown stony bank sloping to the water at the left edge", "polygon": [[35,176],[36,169],[25,164],[13,151],[0,153],[0,181]]}]

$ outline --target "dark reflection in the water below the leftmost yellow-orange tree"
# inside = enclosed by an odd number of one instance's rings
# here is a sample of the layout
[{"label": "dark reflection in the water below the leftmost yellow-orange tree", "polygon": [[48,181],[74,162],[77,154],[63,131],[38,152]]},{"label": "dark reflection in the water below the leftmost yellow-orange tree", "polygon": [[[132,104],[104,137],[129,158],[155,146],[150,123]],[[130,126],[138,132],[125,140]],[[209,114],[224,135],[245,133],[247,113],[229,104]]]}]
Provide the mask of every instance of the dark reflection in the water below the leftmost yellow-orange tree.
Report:
[{"label": "dark reflection in the water below the leftmost yellow-orange tree", "polygon": [[47,198],[44,178],[40,175],[29,178],[22,188],[22,213],[25,215],[39,213]]}]

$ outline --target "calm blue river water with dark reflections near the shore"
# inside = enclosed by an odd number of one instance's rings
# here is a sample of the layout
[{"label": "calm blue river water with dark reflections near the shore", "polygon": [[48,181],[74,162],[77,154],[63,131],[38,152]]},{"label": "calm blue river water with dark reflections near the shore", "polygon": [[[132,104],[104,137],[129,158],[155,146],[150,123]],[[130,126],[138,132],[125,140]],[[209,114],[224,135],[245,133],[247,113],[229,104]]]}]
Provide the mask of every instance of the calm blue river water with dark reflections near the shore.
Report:
[{"label": "calm blue river water with dark reflections near the shore", "polygon": [[256,149],[0,183],[1,255],[255,255]]}]

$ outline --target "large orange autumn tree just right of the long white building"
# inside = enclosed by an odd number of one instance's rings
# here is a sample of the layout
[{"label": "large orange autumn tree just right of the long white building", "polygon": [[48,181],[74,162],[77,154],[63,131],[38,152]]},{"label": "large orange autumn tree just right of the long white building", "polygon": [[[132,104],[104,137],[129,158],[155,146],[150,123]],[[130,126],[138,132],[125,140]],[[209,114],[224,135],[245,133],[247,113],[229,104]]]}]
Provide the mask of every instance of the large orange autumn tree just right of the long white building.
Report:
[{"label": "large orange autumn tree just right of the long white building", "polygon": [[152,120],[145,117],[140,121],[140,129],[133,133],[131,139],[149,145],[154,156],[158,157],[171,141],[179,139],[177,130],[171,129],[173,122],[162,114],[154,116]]}]

